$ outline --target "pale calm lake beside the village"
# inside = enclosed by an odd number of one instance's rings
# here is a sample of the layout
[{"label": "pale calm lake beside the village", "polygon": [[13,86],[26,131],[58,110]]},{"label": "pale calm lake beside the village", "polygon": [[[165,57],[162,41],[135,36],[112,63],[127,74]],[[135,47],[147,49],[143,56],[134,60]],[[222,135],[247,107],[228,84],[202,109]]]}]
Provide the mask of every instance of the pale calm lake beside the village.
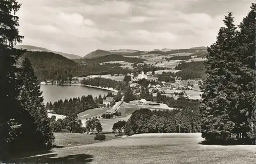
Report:
[{"label": "pale calm lake beside the village", "polygon": [[113,91],[102,90],[98,88],[91,88],[86,86],[58,86],[58,85],[40,85],[40,90],[42,91],[42,96],[44,96],[44,102],[55,102],[59,99],[70,99],[74,97],[81,97],[83,95],[92,95],[93,97],[107,95],[108,92]]}]

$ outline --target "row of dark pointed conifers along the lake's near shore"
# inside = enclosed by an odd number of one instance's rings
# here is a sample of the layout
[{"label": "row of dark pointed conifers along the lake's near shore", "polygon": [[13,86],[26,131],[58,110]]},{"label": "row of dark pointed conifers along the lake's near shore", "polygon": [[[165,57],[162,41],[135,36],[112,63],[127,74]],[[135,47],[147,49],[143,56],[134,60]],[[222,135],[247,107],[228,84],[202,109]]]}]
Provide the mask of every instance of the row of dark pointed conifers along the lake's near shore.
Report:
[{"label": "row of dark pointed conifers along the lake's near shore", "polygon": [[73,114],[78,114],[96,107],[102,107],[103,100],[106,97],[114,97],[114,100],[116,101],[119,101],[122,98],[120,92],[117,95],[113,95],[112,92],[109,92],[106,96],[104,95],[103,97],[99,95],[98,97],[93,98],[92,95],[88,95],[82,96],[81,98],[70,98],[69,100],[65,99],[64,101],[60,99],[53,104],[52,102],[47,102],[46,108],[53,114],[71,116]]}]

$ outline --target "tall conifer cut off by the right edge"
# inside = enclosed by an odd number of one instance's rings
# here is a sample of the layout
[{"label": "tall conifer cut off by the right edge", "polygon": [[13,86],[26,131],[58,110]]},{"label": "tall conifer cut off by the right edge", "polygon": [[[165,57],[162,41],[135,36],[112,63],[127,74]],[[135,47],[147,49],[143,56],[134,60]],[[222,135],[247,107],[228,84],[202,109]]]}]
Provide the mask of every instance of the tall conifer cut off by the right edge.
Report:
[{"label": "tall conifer cut off by the right edge", "polygon": [[256,38],[256,4],[251,5],[251,11],[239,25],[238,55],[241,62],[238,78],[239,90],[239,117],[237,129],[240,138],[246,144],[255,144],[255,38]]}]

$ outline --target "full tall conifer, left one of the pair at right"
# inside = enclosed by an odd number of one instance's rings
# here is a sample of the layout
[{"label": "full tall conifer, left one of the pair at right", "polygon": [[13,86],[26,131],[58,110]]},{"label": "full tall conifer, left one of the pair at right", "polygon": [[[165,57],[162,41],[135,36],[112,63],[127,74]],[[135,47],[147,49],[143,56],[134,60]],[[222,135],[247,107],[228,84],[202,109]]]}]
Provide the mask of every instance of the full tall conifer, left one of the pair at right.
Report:
[{"label": "full tall conifer, left one of the pair at right", "polygon": [[230,116],[235,107],[238,86],[233,85],[234,73],[239,67],[235,50],[237,44],[236,26],[233,24],[232,13],[225,16],[225,28],[218,33],[216,43],[208,47],[206,65],[206,81],[202,88],[202,137],[210,142],[226,142],[234,133],[234,122]]}]

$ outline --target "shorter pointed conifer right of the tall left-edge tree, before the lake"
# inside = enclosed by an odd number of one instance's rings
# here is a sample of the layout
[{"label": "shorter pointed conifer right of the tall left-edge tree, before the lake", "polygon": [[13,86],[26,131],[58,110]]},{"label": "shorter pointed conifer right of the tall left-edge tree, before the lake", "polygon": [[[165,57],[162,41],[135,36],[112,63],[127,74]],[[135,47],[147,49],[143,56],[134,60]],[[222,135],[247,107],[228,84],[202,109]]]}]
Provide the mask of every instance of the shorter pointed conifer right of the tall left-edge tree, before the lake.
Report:
[{"label": "shorter pointed conifer right of the tall left-edge tree, before the lake", "polygon": [[24,59],[17,78],[23,81],[22,87],[20,88],[19,101],[34,118],[36,126],[35,135],[33,136],[34,142],[38,144],[38,147],[51,146],[54,142],[54,135],[50,128],[51,119],[48,118],[44,98],[41,96],[42,92],[40,91],[39,80],[35,76],[28,58]]}]

